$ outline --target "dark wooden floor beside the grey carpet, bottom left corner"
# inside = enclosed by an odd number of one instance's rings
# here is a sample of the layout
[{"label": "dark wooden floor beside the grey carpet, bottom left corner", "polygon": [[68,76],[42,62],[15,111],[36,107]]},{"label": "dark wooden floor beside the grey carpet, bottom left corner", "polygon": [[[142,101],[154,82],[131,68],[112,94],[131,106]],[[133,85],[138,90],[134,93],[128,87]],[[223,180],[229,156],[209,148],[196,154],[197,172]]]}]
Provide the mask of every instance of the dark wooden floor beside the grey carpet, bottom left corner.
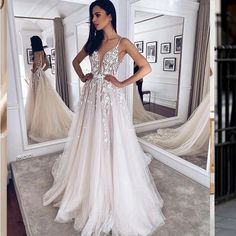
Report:
[{"label": "dark wooden floor beside the grey carpet, bottom left corner", "polygon": [[12,181],[7,186],[7,236],[26,236],[25,226]]}]

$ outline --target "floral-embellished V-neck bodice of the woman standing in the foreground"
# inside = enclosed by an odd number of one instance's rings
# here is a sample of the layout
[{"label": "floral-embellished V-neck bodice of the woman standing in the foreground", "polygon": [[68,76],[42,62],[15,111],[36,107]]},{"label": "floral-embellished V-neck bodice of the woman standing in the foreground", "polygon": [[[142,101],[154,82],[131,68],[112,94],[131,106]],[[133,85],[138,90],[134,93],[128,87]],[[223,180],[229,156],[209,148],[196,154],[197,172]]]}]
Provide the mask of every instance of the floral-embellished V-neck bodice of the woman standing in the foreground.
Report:
[{"label": "floral-embellished V-neck bodice of the woman standing in the foreground", "polygon": [[91,63],[91,72],[94,78],[106,74],[116,75],[119,68],[118,45],[107,51],[103,58],[100,58],[98,51],[94,51],[89,57]]}]

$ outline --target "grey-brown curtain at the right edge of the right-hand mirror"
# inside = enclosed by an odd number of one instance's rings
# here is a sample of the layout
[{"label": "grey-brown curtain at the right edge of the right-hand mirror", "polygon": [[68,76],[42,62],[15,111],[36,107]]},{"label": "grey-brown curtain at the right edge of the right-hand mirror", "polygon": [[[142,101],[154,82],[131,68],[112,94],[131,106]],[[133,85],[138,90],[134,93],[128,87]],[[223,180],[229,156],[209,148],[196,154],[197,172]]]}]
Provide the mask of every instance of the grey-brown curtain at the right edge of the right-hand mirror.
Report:
[{"label": "grey-brown curtain at the right edge of the right-hand mirror", "polygon": [[198,12],[192,90],[190,94],[189,116],[198,107],[209,90],[209,37],[210,37],[210,1],[200,0]]}]

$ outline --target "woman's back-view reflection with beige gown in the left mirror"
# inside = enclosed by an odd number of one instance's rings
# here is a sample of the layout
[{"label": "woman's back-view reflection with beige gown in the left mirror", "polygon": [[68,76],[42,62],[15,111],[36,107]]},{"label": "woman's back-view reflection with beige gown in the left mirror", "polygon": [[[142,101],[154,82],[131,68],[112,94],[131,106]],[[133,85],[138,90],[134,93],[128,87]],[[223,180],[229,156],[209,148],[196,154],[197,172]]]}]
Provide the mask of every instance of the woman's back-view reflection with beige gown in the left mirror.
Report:
[{"label": "woman's back-view reflection with beige gown in the left mirror", "polygon": [[30,38],[33,67],[26,100],[27,134],[35,142],[66,138],[73,113],[50,84],[45,71],[49,67],[38,36]]}]

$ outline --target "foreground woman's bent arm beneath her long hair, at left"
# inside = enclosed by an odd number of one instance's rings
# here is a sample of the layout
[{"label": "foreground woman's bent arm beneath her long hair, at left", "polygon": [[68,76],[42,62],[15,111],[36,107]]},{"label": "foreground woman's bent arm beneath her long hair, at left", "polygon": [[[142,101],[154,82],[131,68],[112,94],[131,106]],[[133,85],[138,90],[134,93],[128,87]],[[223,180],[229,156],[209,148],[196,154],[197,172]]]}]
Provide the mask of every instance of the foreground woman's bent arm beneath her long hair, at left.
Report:
[{"label": "foreground woman's bent arm beneath her long hair, at left", "polygon": [[72,64],[74,67],[75,72],[77,73],[77,75],[79,76],[80,80],[82,82],[85,82],[86,80],[92,79],[92,74],[86,74],[84,75],[81,67],[80,67],[80,63],[84,60],[85,57],[87,57],[88,54],[85,52],[84,48],[82,48],[82,50],[77,54],[77,56],[74,58]]}]

